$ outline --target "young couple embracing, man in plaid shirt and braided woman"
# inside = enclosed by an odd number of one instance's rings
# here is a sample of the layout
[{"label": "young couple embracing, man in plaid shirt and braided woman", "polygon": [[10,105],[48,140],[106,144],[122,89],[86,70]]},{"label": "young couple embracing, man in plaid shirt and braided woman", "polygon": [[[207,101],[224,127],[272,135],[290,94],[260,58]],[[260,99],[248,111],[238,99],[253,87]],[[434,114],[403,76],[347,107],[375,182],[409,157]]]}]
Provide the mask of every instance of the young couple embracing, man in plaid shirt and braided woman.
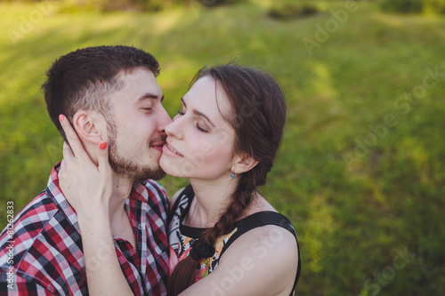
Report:
[{"label": "young couple embracing, man in plaid shirt and braided woman", "polygon": [[[149,53],[127,46],[54,62],[44,96],[69,145],[14,219],[11,264],[7,228],[0,236],[1,292],[294,292],[295,230],[258,192],[286,121],[279,84],[255,68],[203,68],[172,121],[158,72]],[[153,181],[165,172],[190,180],[171,202]]]}]

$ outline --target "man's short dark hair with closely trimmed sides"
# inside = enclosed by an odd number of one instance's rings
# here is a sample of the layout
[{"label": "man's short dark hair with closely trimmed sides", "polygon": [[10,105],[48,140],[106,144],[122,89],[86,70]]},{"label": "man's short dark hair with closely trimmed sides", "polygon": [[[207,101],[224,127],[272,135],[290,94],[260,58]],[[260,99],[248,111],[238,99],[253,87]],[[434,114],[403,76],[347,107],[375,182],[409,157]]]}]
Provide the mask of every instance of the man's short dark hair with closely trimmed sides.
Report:
[{"label": "man's short dark hair with closely trimmed sides", "polygon": [[42,89],[48,113],[62,138],[66,140],[59,115],[71,121],[78,110],[85,109],[107,117],[109,95],[123,87],[117,75],[131,73],[135,68],[146,68],[154,76],[159,74],[158,60],[132,46],[87,47],[55,60],[46,72],[48,79]]}]

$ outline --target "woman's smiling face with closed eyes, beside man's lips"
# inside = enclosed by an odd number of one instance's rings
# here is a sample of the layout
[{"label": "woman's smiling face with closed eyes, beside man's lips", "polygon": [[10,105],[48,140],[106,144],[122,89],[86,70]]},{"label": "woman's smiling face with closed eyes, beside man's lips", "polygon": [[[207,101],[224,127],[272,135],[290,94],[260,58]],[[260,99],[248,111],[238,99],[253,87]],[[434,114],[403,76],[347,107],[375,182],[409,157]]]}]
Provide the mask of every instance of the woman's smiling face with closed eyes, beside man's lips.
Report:
[{"label": "woman's smiling face with closed eyes, beside man's lips", "polygon": [[166,125],[161,168],[176,177],[230,180],[235,132],[223,115],[231,113],[227,94],[214,78],[198,79]]}]

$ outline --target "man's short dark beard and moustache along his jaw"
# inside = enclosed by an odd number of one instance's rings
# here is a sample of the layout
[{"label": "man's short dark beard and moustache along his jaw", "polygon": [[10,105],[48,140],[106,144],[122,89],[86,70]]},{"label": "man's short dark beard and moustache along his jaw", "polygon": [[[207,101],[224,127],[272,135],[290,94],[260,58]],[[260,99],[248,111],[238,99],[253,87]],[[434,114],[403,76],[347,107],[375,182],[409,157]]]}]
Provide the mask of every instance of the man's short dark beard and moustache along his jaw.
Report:
[{"label": "man's short dark beard and moustache along his jaw", "polygon": [[[111,169],[117,173],[117,175],[124,177],[127,180],[142,181],[147,179],[160,180],[166,176],[160,166],[152,168],[150,165],[142,165],[135,162],[133,159],[126,158],[120,155],[117,151],[117,131],[114,124],[109,124],[109,165]],[[150,140],[150,144],[153,142],[159,142],[162,139]]]}]

